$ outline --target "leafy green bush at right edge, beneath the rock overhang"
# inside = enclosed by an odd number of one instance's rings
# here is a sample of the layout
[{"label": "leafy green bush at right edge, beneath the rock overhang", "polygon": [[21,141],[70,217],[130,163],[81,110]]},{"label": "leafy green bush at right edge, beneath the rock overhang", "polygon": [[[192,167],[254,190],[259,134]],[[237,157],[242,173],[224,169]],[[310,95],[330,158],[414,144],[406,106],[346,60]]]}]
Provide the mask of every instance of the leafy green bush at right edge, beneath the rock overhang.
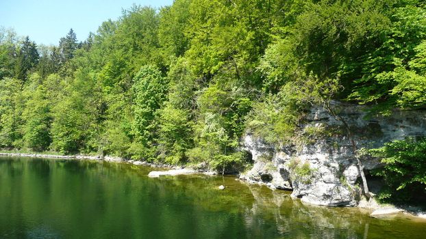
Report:
[{"label": "leafy green bush at right edge, beneath the rock overhang", "polygon": [[426,199],[426,140],[405,140],[386,143],[370,150],[381,158],[384,167],[376,175],[384,178],[388,188],[381,193],[384,201],[416,201]]}]

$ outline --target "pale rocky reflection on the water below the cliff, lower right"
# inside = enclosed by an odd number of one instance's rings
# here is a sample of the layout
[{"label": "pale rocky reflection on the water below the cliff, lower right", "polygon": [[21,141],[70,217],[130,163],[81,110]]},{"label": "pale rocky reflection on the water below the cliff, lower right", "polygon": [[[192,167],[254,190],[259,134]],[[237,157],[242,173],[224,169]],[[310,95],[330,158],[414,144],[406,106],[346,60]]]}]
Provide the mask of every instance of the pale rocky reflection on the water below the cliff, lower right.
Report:
[{"label": "pale rocky reflection on the water below the cliff, lower right", "polygon": [[374,219],[361,208],[305,205],[289,193],[246,186],[254,199],[247,210],[247,225],[258,226],[260,217],[275,221],[279,234],[288,238],[423,238],[426,232],[426,221],[421,219]]}]

